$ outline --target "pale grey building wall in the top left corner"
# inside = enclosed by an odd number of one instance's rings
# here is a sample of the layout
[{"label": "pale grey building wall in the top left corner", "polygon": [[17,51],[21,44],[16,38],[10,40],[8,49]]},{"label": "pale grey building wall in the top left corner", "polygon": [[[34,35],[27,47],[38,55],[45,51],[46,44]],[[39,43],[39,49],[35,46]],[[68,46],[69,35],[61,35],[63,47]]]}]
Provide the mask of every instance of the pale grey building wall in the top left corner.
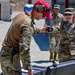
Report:
[{"label": "pale grey building wall in the top left corner", "polygon": [[10,20],[10,2],[9,0],[0,0],[1,20]]}]

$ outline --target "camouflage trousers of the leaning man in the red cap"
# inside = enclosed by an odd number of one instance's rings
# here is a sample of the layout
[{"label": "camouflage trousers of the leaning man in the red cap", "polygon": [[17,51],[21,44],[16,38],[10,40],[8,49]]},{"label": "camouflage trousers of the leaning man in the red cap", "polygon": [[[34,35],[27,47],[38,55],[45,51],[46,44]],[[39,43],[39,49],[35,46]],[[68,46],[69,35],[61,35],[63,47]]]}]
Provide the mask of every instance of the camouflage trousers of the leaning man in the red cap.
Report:
[{"label": "camouflage trousers of the leaning man in the red cap", "polygon": [[11,53],[2,48],[0,61],[3,75],[22,75],[19,53],[11,57]]}]

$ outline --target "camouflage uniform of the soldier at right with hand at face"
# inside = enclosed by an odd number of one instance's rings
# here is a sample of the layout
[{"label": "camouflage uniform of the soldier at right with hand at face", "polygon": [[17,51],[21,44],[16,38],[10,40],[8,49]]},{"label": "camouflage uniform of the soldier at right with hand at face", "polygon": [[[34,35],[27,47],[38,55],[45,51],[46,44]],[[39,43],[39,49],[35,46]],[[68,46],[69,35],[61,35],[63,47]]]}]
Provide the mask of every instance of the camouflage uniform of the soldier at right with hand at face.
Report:
[{"label": "camouflage uniform of the soldier at right with hand at face", "polygon": [[63,22],[60,33],[62,35],[59,48],[59,61],[64,62],[75,56],[75,23],[69,25]]}]

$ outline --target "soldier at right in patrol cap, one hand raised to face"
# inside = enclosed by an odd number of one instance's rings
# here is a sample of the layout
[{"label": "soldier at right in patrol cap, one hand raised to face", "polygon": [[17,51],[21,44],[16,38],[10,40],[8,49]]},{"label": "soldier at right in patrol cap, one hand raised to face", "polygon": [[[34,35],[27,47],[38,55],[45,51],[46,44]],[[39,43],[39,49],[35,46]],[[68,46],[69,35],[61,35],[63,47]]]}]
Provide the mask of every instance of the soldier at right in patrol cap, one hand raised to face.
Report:
[{"label": "soldier at right in patrol cap, one hand raised to face", "polygon": [[59,45],[59,62],[75,59],[75,22],[73,21],[73,11],[69,9],[64,13],[66,21],[60,27],[52,27],[51,32],[60,32],[61,40]]}]

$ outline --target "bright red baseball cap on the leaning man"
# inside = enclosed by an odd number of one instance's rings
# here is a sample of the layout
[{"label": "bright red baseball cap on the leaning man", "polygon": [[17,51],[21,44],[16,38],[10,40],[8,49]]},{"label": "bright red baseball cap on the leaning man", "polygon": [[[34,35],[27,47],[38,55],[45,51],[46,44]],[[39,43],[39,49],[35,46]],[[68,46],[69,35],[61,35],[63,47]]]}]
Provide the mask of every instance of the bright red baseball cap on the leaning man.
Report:
[{"label": "bright red baseball cap on the leaning man", "polygon": [[[51,8],[51,6],[45,0],[38,0],[37,2],[34,3],[34,6],[40,5],[40,3],[42,5],[44,5],[46,7],[46,9],[50,9]],[[47,19],[52,19],[53,18],[50,11],[45,11],[44,15],[46,16]]]}]

